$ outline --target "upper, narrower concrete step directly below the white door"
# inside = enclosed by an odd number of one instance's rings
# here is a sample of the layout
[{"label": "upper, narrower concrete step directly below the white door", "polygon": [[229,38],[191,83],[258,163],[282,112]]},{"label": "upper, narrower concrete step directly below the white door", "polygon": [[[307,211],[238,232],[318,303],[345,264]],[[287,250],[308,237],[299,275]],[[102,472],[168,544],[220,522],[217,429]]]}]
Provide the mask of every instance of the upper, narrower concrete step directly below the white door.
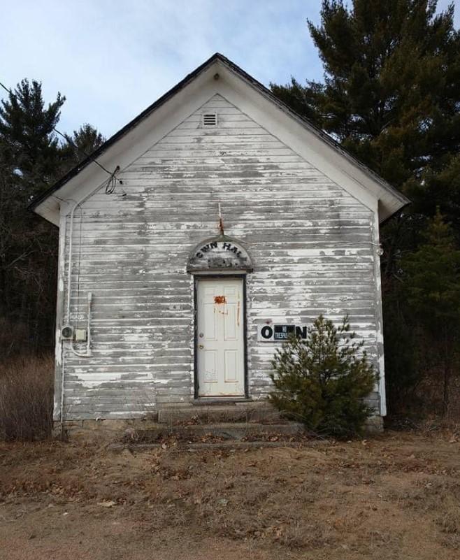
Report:
[{"label": "upper, narrower concrete step directly below the white door", "polygon": [[197,403],[185,406],[166,406],[158,410],[158,423],[214,424],[215,422],[272,423],[280,420],[280,413],[265,402]]}]

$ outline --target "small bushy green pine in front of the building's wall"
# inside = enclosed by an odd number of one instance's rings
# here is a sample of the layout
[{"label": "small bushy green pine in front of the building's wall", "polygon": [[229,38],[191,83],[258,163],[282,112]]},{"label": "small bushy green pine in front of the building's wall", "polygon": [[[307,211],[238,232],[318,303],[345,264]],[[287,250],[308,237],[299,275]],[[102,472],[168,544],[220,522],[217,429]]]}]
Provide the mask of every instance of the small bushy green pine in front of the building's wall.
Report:
[{"label": "small bushy green pine in front of the building's wall", "polygon": [[319,315],[306,339],[292,336],[275,352],[269,400],[309,431],[350,437],[361,433],[374,411],[364,399],[378,376],[350,332],[347,318],[336,327]]}]

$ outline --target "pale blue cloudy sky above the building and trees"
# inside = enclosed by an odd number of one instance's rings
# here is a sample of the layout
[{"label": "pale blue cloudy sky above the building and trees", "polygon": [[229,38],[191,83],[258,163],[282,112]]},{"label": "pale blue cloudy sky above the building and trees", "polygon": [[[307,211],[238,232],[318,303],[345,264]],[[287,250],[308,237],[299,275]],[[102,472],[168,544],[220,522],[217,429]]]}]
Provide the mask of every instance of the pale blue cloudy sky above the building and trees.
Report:
[{"label": "pale blue cloudy sky above the building and trees", "polygon": [[[438,8],[449,3],[440,0]],[[458,28],[460,0],[454,3]],[[306,23],[319,23],[320,6],[321,0],[0,0],[0,82],[41,81],[45,101],[66,96],[59,129],[70,133],[88,122],[109,137],[214,52],[267,86],[291,76],[321,80]]]}]

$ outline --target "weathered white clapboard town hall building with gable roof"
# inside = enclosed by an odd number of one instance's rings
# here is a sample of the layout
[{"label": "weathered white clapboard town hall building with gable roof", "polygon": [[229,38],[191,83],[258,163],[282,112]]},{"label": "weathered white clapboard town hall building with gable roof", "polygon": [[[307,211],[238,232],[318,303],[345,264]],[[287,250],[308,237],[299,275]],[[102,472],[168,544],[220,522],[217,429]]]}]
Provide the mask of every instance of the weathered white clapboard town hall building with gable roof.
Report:
[{"label": "weathered white clapboard town hall building with gable roof", "polygon": [[60,232],[55,420],[260,401],[320,313],[364,338],[384,415],[379,224],[407,202],[213,55],[32,203]]}]

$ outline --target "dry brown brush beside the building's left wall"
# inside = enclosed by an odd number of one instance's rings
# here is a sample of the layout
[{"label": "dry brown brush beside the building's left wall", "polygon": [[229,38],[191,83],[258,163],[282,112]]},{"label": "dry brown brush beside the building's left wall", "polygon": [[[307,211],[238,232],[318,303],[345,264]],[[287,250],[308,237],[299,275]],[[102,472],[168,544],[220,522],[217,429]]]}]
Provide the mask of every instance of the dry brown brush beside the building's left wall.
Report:
[{"label": "dry brown brush beside the building's left wall", "polygon": [[0,364],[0,439],[38,440],[52,429],[52,357],[19,357]]}]

